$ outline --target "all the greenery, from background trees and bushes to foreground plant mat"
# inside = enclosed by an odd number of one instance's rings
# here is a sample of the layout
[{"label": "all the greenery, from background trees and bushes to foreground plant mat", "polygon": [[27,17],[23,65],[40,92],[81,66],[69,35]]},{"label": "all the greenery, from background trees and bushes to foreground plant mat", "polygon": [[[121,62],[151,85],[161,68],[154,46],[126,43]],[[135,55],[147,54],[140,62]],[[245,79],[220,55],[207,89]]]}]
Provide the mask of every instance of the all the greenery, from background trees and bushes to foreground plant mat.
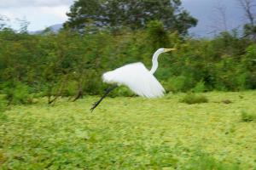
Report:
[{"label": "all the greenery, from background trees and bushes to foreground plant mat", "polygon": [[[58,33],[0,17],[0,169],[256,169],[254,24],[200,39],[179,0],[106,2],[75,1]],[[104,71],[173,47],[164,98],[119,87],[90,113]]]}]

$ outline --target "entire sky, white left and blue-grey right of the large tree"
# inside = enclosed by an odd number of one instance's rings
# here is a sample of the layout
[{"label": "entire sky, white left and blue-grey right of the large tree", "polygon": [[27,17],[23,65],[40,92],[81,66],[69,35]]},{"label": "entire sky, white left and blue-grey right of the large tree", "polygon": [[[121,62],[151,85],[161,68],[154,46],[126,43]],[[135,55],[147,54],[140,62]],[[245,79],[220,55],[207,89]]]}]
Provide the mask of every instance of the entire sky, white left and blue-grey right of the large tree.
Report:
[{"label": "entire sky, white left and blue-grey right of the large tree", "polygon": [[[198,26],[192,29],[196,35],[206,35],[212,26],[218,24],[218,13],[214,7],[226,7],[228,28],[241,24],[242,12],[236,0],[182,0],[183,7],[199,20]],[[42,30],[47,26],[63,23],[67,20],[67,11],[73,0],[0,0],[0,14],[7,16],[14,28],[19,27],[16,18],[30,22],[29,31]]]}]

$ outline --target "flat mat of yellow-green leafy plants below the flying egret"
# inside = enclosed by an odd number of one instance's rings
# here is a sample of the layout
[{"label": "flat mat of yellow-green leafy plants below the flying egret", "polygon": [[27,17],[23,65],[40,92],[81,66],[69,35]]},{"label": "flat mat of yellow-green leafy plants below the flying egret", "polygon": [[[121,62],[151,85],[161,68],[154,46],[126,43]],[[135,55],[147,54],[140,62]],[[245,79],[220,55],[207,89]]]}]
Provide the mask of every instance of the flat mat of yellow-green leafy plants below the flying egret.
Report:
[{"label": "flat mat of yellow-green leafy plants below the flying egret", "polygon": [[[256,169],[256,91],[98,97],[0,113],[0,169]],[[186,98],[188,99],[188,98]]]}]

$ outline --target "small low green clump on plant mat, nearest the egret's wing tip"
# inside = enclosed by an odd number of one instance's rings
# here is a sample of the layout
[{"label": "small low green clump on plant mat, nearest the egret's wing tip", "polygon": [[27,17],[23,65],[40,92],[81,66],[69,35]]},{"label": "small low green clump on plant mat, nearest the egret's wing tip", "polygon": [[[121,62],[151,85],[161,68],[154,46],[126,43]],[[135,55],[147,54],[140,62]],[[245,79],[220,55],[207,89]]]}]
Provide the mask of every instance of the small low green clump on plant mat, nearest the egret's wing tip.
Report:
[{"label": "small low green clump on plant mat, nearest the egret's wing tip", "polygon": [[192,105],[192,104],[207,103],[208,99],[206,96],[201,94],[189,93],[189,94],[186,94],[183,97],[183,99],[181,99],[181,102]]}]

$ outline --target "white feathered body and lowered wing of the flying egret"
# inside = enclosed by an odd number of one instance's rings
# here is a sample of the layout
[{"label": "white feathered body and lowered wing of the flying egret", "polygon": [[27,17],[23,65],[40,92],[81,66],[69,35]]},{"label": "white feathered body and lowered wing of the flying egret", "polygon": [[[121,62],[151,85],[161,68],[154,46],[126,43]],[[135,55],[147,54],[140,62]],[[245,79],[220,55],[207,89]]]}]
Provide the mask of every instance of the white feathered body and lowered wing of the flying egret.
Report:
[{"label": "white feathered body and lowered wing of the flying egret", "polygon": [[165,89],[143,63],[134,63],[108,71],[102,76],[103,82],[125,85],[135,94],[146,98],[163,96]]}]

